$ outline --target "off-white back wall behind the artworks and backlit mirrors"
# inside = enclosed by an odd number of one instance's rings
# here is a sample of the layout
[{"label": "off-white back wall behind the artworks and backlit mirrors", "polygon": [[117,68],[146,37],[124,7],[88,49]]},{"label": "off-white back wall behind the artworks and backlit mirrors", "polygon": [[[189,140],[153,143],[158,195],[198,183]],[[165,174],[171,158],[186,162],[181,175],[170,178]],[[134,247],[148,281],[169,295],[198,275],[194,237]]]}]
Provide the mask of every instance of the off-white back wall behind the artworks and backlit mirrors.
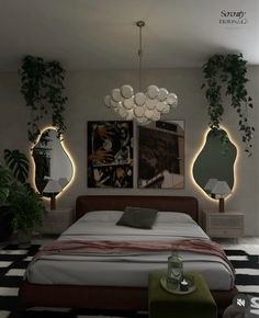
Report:
[{"label": "off-white back wall behind the artworks and backlit mirrors", "polygon": [[[258,128],[258,89],[259,68],[250,67],[248,92],[252,95],[255,109],[251,112],[251,124]],[[58,198],[58,205],[75,205],[80,194],[147,194],[147,195],[194,195],[200,207],[217,208],[194,184],[191,164],[201,146],[204,130],[207,127],[207,102],[201,90],[203,75],[201,69],[165,69],[146,70],[143,75],[143,88],[150,83],[165,87],[177,93],[178,109],[165,120],[185,121],[185,188],[184,190],[115,190],[87,189],[87,121],[120,120],[113,111],[103,105],[103,96],[123,83],[137,86],[136,70],[75,71],[67,73],[66,92],[68,96],[65,120],[67,132],[65,144],[70,150],[77,167],[77,174],[71,186]],[[26,121],[29,111],[20,94],[19,78],[14,73],[0,75],[0,154],[4,148],[19,148],[27,151],[31,147],[26,139]],[[257,133],[254,139],[254,155],[247,158],[238,134],[237,116],[232,109],[226,109],[224,125],[239,145],[240,156],[237,162],[237,183],[235,192],[226,201],[226,209],[245,213],[246,234],[259,235],[259,186],[258,186],[258,143]],[[136,170],[136,169],[135,169]]]}]

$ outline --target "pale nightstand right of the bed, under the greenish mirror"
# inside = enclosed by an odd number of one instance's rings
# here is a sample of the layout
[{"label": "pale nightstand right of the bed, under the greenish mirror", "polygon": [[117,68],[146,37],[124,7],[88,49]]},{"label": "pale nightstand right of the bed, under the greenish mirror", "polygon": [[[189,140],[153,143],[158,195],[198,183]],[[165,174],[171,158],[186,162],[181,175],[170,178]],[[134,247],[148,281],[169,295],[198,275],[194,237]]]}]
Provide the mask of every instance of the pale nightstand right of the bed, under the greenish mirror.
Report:
[{"label": "pale nightstand right of the bed, under the greenish mirror", "polygon": [[244,213],[203,211],[203,229],[213,238],[238,238],[244,236]]}]

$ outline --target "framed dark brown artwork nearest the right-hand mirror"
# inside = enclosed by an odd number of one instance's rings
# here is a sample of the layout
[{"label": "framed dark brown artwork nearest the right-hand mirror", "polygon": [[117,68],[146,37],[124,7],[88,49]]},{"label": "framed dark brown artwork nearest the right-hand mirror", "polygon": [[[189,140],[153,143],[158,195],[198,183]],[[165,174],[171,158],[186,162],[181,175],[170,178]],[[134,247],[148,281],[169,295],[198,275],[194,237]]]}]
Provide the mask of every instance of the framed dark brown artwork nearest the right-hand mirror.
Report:
[{"label": "framed dark brown artwork nearest the right-hand mirror", "polygon": [[139,126],[138,188],[184,188],[184,122]]}]

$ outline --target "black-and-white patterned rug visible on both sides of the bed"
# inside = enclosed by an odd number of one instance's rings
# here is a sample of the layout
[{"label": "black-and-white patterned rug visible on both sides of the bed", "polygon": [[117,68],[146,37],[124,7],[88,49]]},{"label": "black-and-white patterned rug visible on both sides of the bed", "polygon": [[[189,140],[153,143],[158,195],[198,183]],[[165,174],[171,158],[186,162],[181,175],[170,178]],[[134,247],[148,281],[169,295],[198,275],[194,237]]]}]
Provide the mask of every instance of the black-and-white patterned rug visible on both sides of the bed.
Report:
[{"label": "black-and-white patterned rug visible on both sides of the bed", "polygon": [[[18,297],[19,286],[29,262],[40,245],[19,248],[9,245],[0,249],[0,318],[147,318],[147,313],[114,313],[76,309],[37,308],[21,310]],[[236,285],[240,293],[259,297],[259,255],[245,250],[225,250],[236,269]],[[191,318],[191,317],[190,317]]]}]

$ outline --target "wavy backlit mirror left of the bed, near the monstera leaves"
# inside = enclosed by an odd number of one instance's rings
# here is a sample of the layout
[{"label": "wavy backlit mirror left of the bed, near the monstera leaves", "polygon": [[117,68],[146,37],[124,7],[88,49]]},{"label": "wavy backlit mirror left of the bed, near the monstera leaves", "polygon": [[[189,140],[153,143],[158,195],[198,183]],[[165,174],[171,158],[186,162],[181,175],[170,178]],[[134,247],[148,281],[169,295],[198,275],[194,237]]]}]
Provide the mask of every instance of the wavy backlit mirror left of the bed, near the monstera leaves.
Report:
[{"label": "wavy backlit mirror left of the bed, near the monstera leaves", "polygon": [[63,141],[55,128],[47,128],[32,150],[35,162],[35,185],[43,193],[49,179],[58,181],[64,189],[71,180],[74,169]]}]

